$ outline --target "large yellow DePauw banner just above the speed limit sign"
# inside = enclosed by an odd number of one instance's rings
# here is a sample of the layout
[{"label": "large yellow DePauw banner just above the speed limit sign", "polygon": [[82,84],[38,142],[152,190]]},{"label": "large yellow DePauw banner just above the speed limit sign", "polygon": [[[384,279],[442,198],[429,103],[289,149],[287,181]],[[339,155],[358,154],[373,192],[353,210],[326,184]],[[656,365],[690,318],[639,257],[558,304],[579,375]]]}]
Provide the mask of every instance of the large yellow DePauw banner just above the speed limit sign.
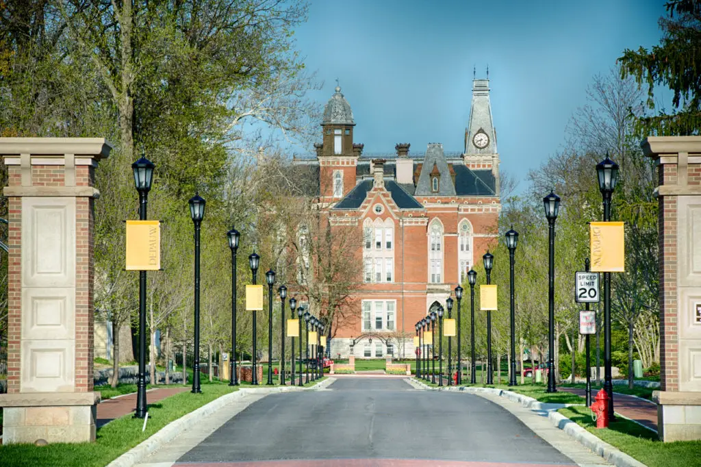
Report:
[{"label": "large yellow DePauw banner just above the speed limit sign", "polygon": [[625,229],[623,222],[590,222],[589,234],[592,271],[625,271]]}]

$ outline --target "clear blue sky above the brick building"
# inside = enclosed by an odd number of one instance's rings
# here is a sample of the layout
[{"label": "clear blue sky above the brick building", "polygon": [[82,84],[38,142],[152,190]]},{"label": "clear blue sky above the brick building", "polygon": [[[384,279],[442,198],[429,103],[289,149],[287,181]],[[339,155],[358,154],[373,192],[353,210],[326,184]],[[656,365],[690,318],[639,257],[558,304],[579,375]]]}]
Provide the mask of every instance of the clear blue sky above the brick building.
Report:
[{"label": "clear blue sky above the brick building", "polygon": [[472,69],[489,65],[501,168],[524,180],[562,148],[592,76],[658,43],[664,14],[662,0],[317,0],[294,37],[324,82],[311,96],[326,102],[339,79],[366,152],[461,151]]}]

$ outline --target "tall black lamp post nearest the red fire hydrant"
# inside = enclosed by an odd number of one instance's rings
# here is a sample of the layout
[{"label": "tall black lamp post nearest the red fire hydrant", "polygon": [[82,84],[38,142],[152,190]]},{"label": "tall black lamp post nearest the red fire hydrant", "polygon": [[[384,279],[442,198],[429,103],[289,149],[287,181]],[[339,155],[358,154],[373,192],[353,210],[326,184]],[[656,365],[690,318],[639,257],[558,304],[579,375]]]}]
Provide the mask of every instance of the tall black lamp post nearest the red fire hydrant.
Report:
[{"label": "tall black lamp post nearest the red fire hydrant", "polygon": [[[618,164],[606,158],[597,164],[599,191],[604,201],[604,222],[611,220],[611,196],[618,179]],[[604,272],[604,390],[608,393],[608,418],[613,420],[613,384],[611,384],[611,273]]]}]

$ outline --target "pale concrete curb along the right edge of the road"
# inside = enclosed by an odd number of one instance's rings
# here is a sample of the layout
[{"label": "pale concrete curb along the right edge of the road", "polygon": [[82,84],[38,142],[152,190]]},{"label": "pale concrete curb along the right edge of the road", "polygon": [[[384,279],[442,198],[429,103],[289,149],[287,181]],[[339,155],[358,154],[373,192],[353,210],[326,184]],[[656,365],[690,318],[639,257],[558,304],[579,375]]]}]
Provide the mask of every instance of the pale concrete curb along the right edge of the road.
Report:
[{"label": "pale concrete curb along the right edge of the road", "polygon": [[557,428],[567,433],[567,435],[579,442],[581,445],[590,449],[595,454],[606,459],[606,461],[613,463],[613,465],[615,465],[616,467],[647,467],[644,463],[633,459],[631,456],[625,454],[625,452],[622,452],[620,449],[609,445],[608,442],[605,442],[604,440],[598,438],[596,435],[589,433],[585,428],[576,424],[576,422],[571,421],[563,414],[557,412],[557,410],[562,409],[564,407],[582,404],[549,404],[545,402],[538,402],[538,400],[529,398],[527,395],[513,393],[512,391],[505,391],[503,389],[497,388],[468,388],[465,386],[449,386],[434,388],[423,384],[421,381],[418,381],[416,379],[413,379],[412,382],[415,383],[412,384],[412,386],[425,388],[429,391],[460,391],[475,394],[494,394],[503,398],[507,398],[512,402],[517,402],[523,407],[526,407],[530,410],[548,412],[547,419],[550,420],[550,422],[554,426],[557,426]]}]

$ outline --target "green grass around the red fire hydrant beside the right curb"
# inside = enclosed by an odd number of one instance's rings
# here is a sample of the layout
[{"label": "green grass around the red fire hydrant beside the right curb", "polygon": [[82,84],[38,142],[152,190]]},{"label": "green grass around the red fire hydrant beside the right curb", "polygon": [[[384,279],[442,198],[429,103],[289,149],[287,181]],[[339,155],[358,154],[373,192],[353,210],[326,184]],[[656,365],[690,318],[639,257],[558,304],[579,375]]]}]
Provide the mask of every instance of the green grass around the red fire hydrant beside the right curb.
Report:
[{"label": "green grass around the red fire hydrant beside the right curb", "polygon": [[586,407],[567,407],[558,412],[648,467],[667,467],[672,463],[701,466],[701,441],[662,442],[653,431],[620,417],[609,428],[597,429],[592,412]]}]

